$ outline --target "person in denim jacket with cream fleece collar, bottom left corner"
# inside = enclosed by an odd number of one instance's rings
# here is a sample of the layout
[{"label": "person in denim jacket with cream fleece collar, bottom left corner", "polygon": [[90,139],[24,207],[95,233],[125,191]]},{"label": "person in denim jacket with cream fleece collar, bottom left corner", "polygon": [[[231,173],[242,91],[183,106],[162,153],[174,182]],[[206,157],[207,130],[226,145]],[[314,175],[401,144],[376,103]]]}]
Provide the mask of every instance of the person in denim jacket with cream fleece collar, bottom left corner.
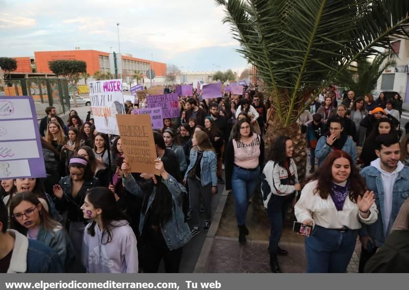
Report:
[{"label": "person in denim jacket with cream fleece collar, bottom left corner", "polygon": [[7,230],[7,208],[0,203],[0,273],[64,273],[58,254],[39,241]]}]

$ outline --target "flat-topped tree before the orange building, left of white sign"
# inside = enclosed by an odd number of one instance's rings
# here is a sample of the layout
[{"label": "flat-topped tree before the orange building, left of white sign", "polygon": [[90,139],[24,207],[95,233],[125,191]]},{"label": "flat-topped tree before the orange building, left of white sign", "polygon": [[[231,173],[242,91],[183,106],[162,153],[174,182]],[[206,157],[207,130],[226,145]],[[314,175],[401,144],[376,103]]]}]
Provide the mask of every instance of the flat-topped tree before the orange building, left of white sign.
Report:
[{"label": "flat-topped tree before the orange building, left of white sign", "polygon": [[[86,74],[86,62],[82,60],[53,60],[49,62],[49,68],[57,77],[66,78],[73,88],[77,86],[82,75]],[[77,107],[77,99],[75,97],[77,93],[75,91],[72,92],[74,107]]]}]

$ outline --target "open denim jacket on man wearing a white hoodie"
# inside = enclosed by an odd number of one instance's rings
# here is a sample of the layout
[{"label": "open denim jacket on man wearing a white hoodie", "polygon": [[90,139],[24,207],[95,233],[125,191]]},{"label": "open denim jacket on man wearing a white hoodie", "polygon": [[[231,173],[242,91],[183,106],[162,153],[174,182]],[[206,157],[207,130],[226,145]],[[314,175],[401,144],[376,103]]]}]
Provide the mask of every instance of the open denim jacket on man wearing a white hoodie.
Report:
[{"label": "open denim jacket on man wearing a white hoodie", "polygon": [[[376,247],[382,247],[387,239],[383,229],[382,213],[384,211],[384,191],[381,179],[381,173],[373,166],[365,167],[361,170],[360,174],[368,186],[369,190],[375,193],[375,203],[379,210],[378,220],[372,225],[362,225],[362,229],[359,230],[360,236],[370,236],[375,243]],[[393,185],[393,197],[392,197],[392,212],[389,220],[388,228],[391,229],[392,225],[398,215],[401,205],[409,197],[409,167],[404,167],[397,175],[395,183]],[[390,231],[390,230],[389,230]]]}]

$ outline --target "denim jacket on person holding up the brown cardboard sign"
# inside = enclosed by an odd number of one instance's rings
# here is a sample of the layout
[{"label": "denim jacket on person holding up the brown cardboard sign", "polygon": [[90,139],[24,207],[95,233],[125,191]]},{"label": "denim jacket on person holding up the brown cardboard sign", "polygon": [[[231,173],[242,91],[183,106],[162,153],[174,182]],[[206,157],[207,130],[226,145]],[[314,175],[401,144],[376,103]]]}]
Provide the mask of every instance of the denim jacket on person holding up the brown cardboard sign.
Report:
[{"label": "denim jacket on person holding up the brown cardboard sign", "polygon": [[[131,194],[137,195],[139,197],[144,197],[145,193],[142,191],[141,187],[133,178],[132,174],[129,174],[128,177],[123,178],[124,186],[127,191]],[[167,180],[162,181],[170,193],[172,194],[173,199],[173,209],[172,209],[172,218],[169,219],[163,227],[161,227],[162,235],[166,241],[166,244],[170,251],[181,248],[188,243],[192,238],[188,224],[185,222],[185,215],[182,210],[182,191],[183,186],[181,186],[176,179],[169,174]],[[143,232],[143,228],[147,221],[147,214],[149,208],[152,205],[153,200],[155,199],[155,188],[153,192],[149,195],[148,205],[145,212],[141,212],[141,219],[139,221],[139,232]]]}]

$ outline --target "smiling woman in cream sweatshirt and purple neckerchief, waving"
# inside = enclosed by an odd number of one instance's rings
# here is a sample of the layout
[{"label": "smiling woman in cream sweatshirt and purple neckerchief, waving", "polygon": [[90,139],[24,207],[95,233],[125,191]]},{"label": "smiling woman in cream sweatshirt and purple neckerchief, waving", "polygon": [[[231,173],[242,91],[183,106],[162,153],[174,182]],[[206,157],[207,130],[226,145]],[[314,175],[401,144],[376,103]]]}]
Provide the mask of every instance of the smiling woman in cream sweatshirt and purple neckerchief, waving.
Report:
[{"label": "smiling woman in cream sweatshirt and purple neckerchief, waving", "polygon": [[373,191],[368,191],[351,156],[332,151],[303,188],[296,218],[312,226],[305,238],[308,273],[345,273],[362,224],[378,219]]}]

